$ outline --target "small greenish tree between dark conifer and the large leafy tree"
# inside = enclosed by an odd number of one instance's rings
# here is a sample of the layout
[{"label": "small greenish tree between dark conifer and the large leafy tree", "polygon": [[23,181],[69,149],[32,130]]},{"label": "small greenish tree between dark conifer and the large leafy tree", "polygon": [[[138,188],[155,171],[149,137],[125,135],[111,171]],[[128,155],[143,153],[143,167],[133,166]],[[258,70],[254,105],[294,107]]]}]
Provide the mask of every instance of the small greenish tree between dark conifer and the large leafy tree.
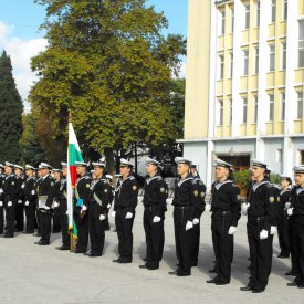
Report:
[{"label": "small greenish tree between dark conifer and the large leafy tree", "polygon": [[22,115],[23,133],[20,139],[20,146],[22,150],[23,164],[31,164],[38,166],[41,161],[49,161],[45,150],[41,147],[41,144],[36,136],[36,122],[33,118],[32,113]]}]

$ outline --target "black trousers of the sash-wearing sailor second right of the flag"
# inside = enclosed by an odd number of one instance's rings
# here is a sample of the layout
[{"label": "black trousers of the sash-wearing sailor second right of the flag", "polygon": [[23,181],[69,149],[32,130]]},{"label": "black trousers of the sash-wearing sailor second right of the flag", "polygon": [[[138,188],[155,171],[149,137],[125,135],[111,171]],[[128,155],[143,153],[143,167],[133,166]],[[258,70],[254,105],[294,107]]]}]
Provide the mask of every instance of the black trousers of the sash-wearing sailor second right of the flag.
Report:
[{"label": "black trousers of the sash-wearing sailor second right of the flag", "polygon": [[99,220],[101,207],[91,202],[88,211],[88,233],[91,241],[91,253],[102,255],[105,243],[105,220]]}]

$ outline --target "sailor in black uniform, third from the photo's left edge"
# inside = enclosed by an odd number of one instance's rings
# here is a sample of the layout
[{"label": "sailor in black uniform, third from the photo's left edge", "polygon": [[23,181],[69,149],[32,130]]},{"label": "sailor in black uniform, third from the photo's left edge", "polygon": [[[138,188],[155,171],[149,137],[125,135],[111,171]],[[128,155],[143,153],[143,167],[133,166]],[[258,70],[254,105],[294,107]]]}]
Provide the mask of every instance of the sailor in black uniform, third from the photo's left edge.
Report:
[{"label": "sailor in black uniform, third from the photo's left edge", "polygon": [[24,228],[24,186],[25,178],[23,175],[23,167],[14,165],[14,175],[17,178],[18,200],[15,206],[15,231],[23,231]]}]

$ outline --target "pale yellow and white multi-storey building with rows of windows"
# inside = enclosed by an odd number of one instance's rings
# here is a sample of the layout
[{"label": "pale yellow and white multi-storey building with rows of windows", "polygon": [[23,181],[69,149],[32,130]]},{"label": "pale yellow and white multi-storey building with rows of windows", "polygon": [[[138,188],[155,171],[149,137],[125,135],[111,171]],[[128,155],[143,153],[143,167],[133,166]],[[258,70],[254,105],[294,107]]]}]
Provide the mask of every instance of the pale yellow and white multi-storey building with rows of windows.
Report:
[{"label": "pale yellow and white multi-storey building with rows of windows", "polygon": [[304,164],[304,0],[189,0],[184,155]]}]

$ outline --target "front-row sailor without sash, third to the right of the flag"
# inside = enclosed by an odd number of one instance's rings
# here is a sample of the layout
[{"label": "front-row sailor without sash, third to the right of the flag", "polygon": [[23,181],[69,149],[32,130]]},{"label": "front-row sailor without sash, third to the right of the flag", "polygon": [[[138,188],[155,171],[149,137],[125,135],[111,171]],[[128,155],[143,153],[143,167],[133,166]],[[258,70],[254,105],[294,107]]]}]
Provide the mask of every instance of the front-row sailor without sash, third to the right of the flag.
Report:
[{"label": "front-row sailor without sash, third to the right of the flag", "polygon": [[137,206],[138,182],[132,175],[133,164],[124,158],[120,159],[119,171],[122,182],[115,192],[113,216],[118,237],[118,259],[114,263],[132,263],[133,259],[133,222]]}]

